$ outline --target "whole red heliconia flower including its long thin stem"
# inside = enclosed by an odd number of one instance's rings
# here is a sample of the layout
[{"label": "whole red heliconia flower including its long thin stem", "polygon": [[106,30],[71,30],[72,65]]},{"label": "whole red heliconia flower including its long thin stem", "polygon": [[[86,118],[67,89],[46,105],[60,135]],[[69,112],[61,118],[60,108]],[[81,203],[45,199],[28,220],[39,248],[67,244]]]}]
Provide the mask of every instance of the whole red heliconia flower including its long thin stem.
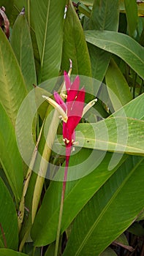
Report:
[{"label": "whole red heliconia flower including its long thin stem", "polygon": [[[72,69],[71,66],[72,66],[72,61],[70,61],[70,69]],[[61,94],[61,95],[66,99],[66,102],[64,102],[63,99],[61,99],[61,96],[56,91],[54,92],[54,98],[56,99],[56,102],[53,99],[50,99],[50,97],[42,95],[42,97],[47,99],[48,102],[51,105],[53,105],[53,107],[56,108],[56,110],[58,110],[58,113],[60,113],[61,115],[60,118],[63,121],[63,140],[66,145],[66,165],[64,169],[64,180],[63,180],[63,187],[61,192],[61,205],[60,205],[60,212],[58,217],[58,230],[57,230],[57,236],[56,236],[55,255],[57,255],[58,253],[58,241],[61,233],[61,219],[62,219],[62,212],[63,212],[63,206],[64,206],[64,194],[65,194],[66,182],[67,182],[69,157],[71,154],[72,145],[75,143],[75,128],[77,127],[77,124],[80,122],[80,119],[83,117],[83,115],[97,101],[97,99],[93,99],[84,108],[86,91],[84,87],[80,89],[79,76],[77,76],[74,82],[71,84],[69,75],[67,74],[67,72],[64,72],[64,81],[65,81],[65,86],[67,90],[67,95],[65,94]]]}]

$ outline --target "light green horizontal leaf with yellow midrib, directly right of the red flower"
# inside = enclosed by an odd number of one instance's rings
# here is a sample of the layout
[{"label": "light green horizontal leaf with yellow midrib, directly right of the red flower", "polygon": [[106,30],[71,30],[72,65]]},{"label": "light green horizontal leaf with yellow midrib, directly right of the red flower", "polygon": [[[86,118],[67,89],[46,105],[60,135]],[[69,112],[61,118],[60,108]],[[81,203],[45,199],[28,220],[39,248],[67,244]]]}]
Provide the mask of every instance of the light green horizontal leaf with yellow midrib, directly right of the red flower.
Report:
[{"label": "light green horizontal leaf with yellow midrib, directly right of the red flower", "polygon": [[79,124],[78,146],[144,156],[144,121],[126,117],[106,118],[95,124]]}]

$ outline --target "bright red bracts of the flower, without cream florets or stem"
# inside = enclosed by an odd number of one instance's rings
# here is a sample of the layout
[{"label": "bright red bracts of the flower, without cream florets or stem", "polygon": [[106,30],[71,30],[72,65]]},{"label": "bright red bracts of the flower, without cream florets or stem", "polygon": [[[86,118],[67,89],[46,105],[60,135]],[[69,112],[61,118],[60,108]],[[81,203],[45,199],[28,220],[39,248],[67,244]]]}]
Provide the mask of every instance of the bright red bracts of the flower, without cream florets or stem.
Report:
[{"label": "bright red bracts of the flower, without cream florets or stem", "polygon": [[64,72],[64,80],[67,89],[66,103],[61,99],[56,91],[54,93],[54,97],[58,105],[60,105],[64,112],[67,113],[67,122],[63,121],[63,138],[65,145],[71,148],[72,143],[75,141],[75,128],[83,115],[86,92],[84,88],[79,90],[79,76],[77,76],[71,84],[69,75],[67,75],[67,72]]}]

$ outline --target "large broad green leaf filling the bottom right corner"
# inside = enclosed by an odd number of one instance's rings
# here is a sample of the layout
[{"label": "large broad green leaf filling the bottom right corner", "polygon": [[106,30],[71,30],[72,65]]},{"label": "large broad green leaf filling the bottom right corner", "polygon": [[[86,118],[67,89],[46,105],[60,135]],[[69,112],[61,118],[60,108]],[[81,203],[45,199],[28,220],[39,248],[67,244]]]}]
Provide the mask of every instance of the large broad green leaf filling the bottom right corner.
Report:
[{"label": "large broad green leaf filling the bottom right corner", "polygon": [[96,192],[75,219],[64,255],[98,256],[134,222],[144,206],[143,167],[143,158],[127,159]]}]

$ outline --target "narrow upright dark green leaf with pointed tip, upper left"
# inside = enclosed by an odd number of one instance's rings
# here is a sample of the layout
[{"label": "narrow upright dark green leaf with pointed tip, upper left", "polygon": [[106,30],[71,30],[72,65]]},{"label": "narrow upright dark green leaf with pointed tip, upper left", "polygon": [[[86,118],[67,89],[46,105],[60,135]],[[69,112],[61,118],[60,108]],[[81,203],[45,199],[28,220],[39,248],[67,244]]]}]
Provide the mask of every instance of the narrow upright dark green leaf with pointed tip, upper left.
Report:
[{"label": "narrow upright dark green leaf with pointed tip, upper left", "polygon": [[33,83],[37,84],[37,78],[29,26],[23,12],[15,20],[12,29],[11,45],[20,64],[26,87],[30,91],[33,89]]}]

